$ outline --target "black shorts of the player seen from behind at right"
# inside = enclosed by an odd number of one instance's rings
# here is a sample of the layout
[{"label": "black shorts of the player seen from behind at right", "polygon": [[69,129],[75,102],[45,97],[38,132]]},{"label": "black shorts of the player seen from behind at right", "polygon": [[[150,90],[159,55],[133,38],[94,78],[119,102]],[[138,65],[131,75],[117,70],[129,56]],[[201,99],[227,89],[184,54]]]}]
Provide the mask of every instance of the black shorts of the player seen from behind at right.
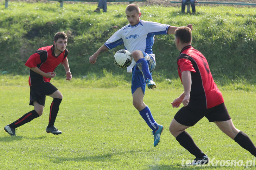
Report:
[{"label": "black shorts of the player seen from behind at right", "polygon": [[174,119],[185,126],[193,126],[204,116],[209,122],[222,122],[231,119],[224,103],[210,109],[202,110],[193,110],[188,107],[182,107],[175,114]]}]

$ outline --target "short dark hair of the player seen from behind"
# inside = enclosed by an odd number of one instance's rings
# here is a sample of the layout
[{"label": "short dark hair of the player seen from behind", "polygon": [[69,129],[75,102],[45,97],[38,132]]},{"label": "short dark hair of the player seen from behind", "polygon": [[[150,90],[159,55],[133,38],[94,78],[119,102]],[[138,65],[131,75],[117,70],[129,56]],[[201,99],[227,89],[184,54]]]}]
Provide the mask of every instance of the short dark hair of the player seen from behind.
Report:
[{"label": "short dark hair of the player seen from behind", "polygon": [[175,29],[175,36],[181,43],[190,43],[192,41],[192,32],[189,27],[182,26]]}]

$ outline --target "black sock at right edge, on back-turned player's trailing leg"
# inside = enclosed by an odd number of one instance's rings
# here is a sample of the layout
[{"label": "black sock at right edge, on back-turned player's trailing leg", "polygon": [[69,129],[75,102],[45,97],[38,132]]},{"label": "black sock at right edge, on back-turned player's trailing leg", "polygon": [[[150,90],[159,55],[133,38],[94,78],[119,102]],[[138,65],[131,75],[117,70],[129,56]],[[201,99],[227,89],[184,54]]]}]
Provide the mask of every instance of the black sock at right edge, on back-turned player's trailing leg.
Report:
[{"label": "black sock at right edge, on back-turned player's trailing leg", "polygon": [[247,134],[242,131],[239,131],[234,141],[237,142],[242,148],[248,150],[252,155],[256,156],[256,148],[252,143],[251,139]]}]

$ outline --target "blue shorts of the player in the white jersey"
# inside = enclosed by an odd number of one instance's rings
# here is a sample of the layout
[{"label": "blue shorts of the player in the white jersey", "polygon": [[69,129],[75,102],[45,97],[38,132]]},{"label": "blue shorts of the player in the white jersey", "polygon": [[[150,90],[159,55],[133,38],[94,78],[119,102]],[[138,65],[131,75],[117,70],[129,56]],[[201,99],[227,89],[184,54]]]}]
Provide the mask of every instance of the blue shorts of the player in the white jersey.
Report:
[{"label": "blue shorts of the player in the white jersey", "polygon": [[[154,54],[147,54],[145,52],[142,52],[142,53],[143,53],[143,57],[146,59],[146,61],[148,63],[149,72],[152,74],[152,72],[155,69],[155,55]],[[143,75],[140,72],[139,68],[137,68],[137,65],[135,65],[133,67],[132,94],[139,87],[141,87],[143,93],[145,94],[145,89],[146,89],[145,80],[144,80]]]}]

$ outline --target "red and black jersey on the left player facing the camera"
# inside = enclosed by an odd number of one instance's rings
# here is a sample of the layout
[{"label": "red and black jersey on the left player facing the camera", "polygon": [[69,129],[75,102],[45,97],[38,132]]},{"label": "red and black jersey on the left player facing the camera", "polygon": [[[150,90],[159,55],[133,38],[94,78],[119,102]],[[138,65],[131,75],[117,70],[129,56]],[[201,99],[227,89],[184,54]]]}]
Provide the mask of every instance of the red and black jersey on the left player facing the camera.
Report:
[{"label": "red and black jersey on the left player facing the camera", "polygon": [[[45,73],[54,72],[57,66],[64,61],[69,52],[65,49],[65,51],[60,53],[59,56],[55,56],[53,47],[54,45],[39,48],[28,58],[25,66],[29,68],[38,67]],[[30,77],[28,80],[30,86],[32,84],[50,82],[50,80],[51,79],[35,73],[30,69]]]}]

